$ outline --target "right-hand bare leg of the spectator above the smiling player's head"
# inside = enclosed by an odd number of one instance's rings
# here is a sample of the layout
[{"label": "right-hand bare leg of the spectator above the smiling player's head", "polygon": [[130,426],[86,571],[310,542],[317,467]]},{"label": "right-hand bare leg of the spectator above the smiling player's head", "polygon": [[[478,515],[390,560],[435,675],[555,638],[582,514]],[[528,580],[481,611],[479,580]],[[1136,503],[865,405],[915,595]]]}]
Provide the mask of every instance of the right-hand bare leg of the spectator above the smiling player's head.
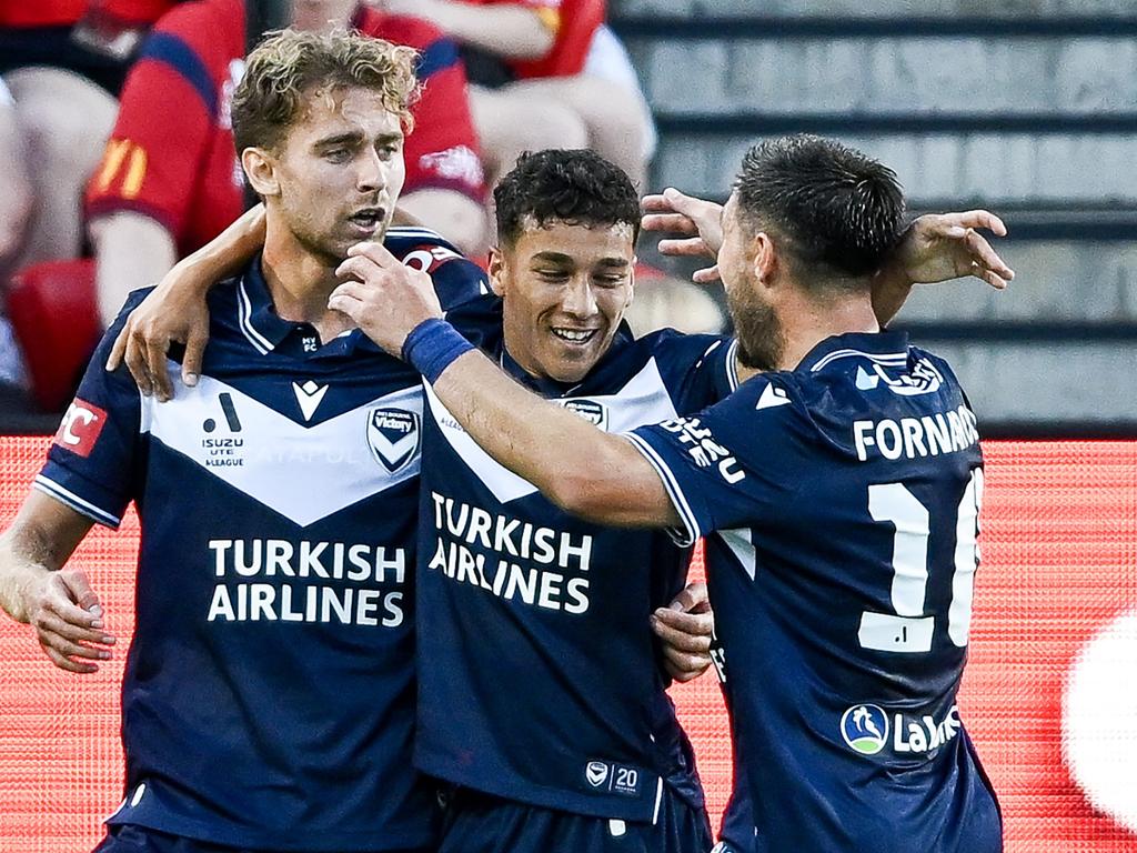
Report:
[{"label": "right-hand bare leg of the spectator above the smiling player's head", "polygon": [[513,94],[529,102],[567,107],[588,129],[588,144],[628,173],[641,191],[647,176],[647,134],[639,94],[600,77],[548,77],[513,83]]}]

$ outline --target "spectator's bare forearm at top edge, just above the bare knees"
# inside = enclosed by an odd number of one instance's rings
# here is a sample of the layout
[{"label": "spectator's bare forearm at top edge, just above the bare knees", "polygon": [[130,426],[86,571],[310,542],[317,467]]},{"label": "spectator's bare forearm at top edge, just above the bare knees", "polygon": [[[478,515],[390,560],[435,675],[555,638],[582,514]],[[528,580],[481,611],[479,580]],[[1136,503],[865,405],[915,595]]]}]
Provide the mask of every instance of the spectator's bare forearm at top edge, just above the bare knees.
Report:
[{"label": "spectator's bare forearm at top edge, just above the bare knees", "polygon": [[520,6],[472,6],[454,0],[422,2],[415,15],[445,33],[506,59],[540,59],[555,36],[532,9]]}]

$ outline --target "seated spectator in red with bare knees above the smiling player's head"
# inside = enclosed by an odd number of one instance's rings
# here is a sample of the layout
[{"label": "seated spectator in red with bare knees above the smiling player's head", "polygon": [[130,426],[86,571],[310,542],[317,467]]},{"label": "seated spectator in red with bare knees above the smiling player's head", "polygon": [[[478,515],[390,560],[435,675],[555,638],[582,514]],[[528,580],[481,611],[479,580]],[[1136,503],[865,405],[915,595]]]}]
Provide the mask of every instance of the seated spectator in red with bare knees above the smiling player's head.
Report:
[{"label": "seated spectator in red with bare knees above the smiling player's head", "polygon": [[590,147],[642,185],[655,132],[628,55],[604,25],[605,0],[380,2],[504,65],[504,85],[473,77],[483,83],[471,102],[491,173],[525,150]]}]

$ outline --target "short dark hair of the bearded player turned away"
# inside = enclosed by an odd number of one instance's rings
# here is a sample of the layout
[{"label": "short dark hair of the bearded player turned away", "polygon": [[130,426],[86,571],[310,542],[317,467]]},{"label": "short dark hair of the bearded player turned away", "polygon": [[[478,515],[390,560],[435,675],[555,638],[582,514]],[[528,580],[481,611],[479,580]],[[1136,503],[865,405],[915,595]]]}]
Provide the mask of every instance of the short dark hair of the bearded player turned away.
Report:
[{"label": "short dark hair of the bearded player turned away", "polygon": [[780,237],[791,258],[804,264],[798,272],[806,284],[877,272],[903,230],[904,192],[896,173],[820,136],[754,146],[735,192],[744,224]]}]

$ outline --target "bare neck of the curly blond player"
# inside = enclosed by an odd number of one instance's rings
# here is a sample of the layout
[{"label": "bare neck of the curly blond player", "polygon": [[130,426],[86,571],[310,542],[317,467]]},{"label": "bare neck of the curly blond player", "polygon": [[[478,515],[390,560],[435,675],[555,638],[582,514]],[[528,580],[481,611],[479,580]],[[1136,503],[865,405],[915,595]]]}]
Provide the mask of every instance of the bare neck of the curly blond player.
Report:
[{"label": "bare neck of the curly blond player", "polygon": [[327,298],[339,285],[335,264],[307,250],[290,233],[274,233],[269,223],[262,255],[265,283],[277,316],[309,323],[327,342],[354,329],[351,321],[327,307]]}]

